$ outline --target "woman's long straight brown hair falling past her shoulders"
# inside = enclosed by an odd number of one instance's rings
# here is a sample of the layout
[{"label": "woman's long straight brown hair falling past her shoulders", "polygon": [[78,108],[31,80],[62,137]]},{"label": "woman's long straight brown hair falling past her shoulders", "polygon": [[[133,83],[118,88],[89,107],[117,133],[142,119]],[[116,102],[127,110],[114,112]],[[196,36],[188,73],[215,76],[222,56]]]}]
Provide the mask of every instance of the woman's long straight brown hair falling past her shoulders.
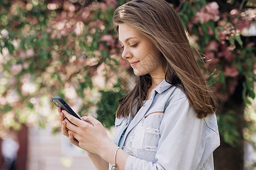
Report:
[{"label": "woman's long straight brown hair falling past her shoulders", "polygon": [[[217,99],[197,64],[200,54],[189,45],[185,28],[174,9],[163,0],[134,0],[119,6],[113,16],[114,29],[129,24],[160,50],[165,64],[166,82],[179,87],[195,108],[197,117],[212,114]],[[121,100],[116,116],[127,117],[135,104],[142,104],[151,86],[149,74],[139,76],[133,90]]]}]

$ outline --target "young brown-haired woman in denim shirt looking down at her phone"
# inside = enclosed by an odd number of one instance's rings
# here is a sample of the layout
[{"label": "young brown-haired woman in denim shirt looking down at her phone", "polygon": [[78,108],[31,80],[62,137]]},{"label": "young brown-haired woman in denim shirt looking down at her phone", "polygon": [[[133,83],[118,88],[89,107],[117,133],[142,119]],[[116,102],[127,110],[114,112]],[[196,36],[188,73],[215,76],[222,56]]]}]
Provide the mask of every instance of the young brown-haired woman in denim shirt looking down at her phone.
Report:
[{"label": "young brown-haired woman in denim shirt looking down at her phone", "polygon": [[163,0],[130,1],[115,10],[113,23],[122,57],[138,76],[119,100],[114,140],[95,118],[59,110],[63,134],[97,169],[213,169],[217,100],[174,9]]}]

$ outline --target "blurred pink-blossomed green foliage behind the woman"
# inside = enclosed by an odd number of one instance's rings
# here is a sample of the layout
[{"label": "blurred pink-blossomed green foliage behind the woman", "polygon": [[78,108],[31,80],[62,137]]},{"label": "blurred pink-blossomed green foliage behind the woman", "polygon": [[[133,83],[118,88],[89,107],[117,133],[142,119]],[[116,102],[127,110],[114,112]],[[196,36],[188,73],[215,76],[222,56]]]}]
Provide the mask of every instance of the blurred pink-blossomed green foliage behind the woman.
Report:
[{"label": "blurred pink-blossomed green foliage behind the woman", "polygon": [[[136,79],[120,57],[112,28],[113,12],[125,2],[0,1],[0,137],[22,124],[51,122],[53,131],[59,130],[52,96],[63,97],[81,116],[97,117],[106,128],[114,124],[118,99]],[[222,141],[233,148],[253,141],[255,0],[168,2],[205,59],[205,76],[220,100]]]}]

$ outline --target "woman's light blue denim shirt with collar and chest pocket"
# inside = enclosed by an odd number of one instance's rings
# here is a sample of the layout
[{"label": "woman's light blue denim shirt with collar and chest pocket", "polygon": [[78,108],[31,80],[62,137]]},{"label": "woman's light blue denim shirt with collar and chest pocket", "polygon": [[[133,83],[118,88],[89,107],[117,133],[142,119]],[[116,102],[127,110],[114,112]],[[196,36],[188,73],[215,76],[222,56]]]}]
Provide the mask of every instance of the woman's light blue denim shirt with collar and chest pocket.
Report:
[{"label": "woman's light blue denim shirt with collar and chest pocket", "polygon": [[216,115],[197,118],[179,88],[163,80],[127,127],[129,118],[115,119],[113,139],[117,145],[127,128],[121,143],[129,154],[125,169],[214,169],[213,151],[220,145]]}]

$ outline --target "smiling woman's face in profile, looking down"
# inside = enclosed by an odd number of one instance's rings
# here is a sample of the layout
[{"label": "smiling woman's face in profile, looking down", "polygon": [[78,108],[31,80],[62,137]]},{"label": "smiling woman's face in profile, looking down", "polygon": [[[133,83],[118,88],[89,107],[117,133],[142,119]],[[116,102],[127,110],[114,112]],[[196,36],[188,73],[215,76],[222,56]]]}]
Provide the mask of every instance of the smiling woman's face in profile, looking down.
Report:
[{"label": "smiling woman's face in profile, looking down", "polygon": [[155,45],[128,24],[119,24],[118,32],[122,57],[130,62],[134,74],[163,77],[162,57]]}]

